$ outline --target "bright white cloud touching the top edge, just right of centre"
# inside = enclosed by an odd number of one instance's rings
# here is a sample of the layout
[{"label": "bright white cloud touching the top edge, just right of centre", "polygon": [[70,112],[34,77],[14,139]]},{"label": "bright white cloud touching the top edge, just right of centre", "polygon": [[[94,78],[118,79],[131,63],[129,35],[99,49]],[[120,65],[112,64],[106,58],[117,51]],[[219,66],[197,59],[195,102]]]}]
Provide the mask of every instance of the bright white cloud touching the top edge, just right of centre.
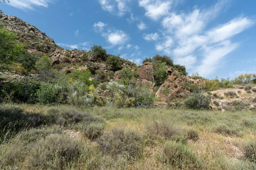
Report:
[{"label": "bright white cloud touching the top edge, just right of centre", "polygon": [[139,4],[145,8],[145,16],[152,20],[159,20],[160,17],[169,14],[172,0],[139,0]]}]

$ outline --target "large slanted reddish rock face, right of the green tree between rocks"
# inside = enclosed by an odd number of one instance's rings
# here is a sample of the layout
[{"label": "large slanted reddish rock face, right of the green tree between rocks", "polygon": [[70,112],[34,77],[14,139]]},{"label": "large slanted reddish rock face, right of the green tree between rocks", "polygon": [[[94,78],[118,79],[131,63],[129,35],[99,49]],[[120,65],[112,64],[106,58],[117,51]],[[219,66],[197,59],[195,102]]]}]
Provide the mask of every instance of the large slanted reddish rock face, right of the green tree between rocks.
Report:
[{"label": "large slanted reddish rock face, right of the green tree between rocks", "polygon": [[184,89],[184,82],[187,82],[186,77],[182,77],[179,72],[174,71],[171,76],[160,86],[156,93],[156,98],[166,101],[167,99],[173,100],[182,98],[184,94],[190,92]]}]

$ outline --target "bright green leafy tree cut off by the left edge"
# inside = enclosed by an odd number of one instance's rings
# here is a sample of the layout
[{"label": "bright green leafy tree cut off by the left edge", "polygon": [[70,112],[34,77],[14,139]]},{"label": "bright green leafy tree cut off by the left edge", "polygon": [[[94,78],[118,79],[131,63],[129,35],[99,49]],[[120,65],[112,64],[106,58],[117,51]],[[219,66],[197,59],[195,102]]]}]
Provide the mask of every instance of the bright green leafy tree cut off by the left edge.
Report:
[{"label": "bright green leafy tree cut off by the left edge", "polygon": [[17,36],[6,29],[0,29],[0,60],[12,60],[23,52],[23,47],[15,42]]}]

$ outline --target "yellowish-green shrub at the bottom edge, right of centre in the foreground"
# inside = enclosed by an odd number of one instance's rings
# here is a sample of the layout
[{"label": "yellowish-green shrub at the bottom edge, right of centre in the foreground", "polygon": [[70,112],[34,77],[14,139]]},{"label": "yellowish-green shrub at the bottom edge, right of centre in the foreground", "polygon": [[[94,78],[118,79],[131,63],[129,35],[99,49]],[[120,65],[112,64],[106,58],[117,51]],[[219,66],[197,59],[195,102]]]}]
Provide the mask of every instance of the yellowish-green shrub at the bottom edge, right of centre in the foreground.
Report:
[{"label": "yellowish-green shrub at the bottom edge, right of centre in the foreground", "polygon": [[176,142],[166,142],[160,159],[171,169],[202,169],[202,160],[189,148]]}]

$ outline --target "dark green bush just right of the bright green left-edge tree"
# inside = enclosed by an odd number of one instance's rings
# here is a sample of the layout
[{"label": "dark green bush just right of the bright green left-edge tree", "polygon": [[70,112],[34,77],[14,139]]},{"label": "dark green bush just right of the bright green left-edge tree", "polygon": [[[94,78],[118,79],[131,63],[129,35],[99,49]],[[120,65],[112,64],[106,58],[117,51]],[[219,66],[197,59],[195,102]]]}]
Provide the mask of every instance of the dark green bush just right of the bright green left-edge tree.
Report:
[{"label": "dark green bush just right of the bright green left-edge tree", "polygon": [[16,61],[19,62],[22,67],[28,70],[35,69],[35,62],[37,62],[38,57],[24,50],[23,53],[16,58]]}]

